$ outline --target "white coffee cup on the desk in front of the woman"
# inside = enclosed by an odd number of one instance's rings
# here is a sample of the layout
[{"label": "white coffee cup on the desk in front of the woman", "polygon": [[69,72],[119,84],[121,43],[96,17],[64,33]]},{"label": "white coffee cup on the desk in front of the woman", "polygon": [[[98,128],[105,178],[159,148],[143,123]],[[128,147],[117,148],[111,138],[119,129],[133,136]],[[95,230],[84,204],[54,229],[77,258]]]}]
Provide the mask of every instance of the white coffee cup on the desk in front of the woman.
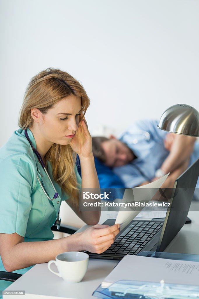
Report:
[{"label": "white coffee cup on the desk in front of the woman", "polygon": [[[88,269],[89,255],[85,252],[69,251],[58,254],[55,260],[48,262],[48,269],[63,278],[68,283],[77,283],[82,280]],[[59,272],[50,269],[55,263]]]}]

